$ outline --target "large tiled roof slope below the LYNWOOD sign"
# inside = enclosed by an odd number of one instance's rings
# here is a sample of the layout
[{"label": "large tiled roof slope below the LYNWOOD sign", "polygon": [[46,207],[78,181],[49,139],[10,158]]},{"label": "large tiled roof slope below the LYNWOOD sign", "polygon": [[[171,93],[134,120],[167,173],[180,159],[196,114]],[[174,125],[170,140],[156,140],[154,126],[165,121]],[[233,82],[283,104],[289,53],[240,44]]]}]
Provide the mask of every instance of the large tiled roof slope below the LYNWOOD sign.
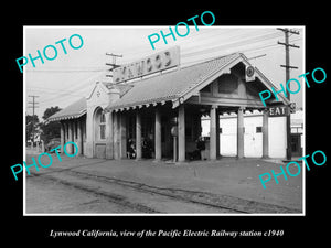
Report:
[{"label": "large tiled roof slope below the LYNWOOD sign", "polygon": [[241,54],[234,53],[136,82],[131,89],[120,99],[111,103],[106,109],[119,109],[177,99],[184,91],[201,83],[205,77],[212,75],[238,56]]}]

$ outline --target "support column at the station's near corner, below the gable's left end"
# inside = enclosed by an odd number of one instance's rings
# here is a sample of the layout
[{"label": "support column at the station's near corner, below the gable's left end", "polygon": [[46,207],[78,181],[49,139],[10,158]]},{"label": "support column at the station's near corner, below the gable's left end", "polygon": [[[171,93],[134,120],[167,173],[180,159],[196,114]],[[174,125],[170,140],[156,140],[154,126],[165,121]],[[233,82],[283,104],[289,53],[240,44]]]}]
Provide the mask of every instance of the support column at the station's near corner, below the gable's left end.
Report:
[{"label": "support column at the station's near corner, below the gable's left end", "polygon": [[181,105],[178,109],[178,161],[185,161],[185,108]]}]

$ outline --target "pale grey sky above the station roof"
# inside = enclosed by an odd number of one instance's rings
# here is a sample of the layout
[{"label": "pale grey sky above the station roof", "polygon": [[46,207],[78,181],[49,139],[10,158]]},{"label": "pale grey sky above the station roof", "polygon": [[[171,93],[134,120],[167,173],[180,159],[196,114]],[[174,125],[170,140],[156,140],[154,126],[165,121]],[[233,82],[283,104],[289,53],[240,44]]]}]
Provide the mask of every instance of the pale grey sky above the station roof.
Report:
[{"label": "pale grey sky above the station roof", "polygon": [[[169,25],[174,29],[173,25]],[[24,103],[25,114],[32,115],[32,106],[28,104],[35,98],[35,114],[42,120],[46,108],[58,106],[65,108],[72,103],[89,95],[96,82],[110,82],[106,74],[109,74],[109,66],[113,58],[106,53],[122,55],[118,57],[117,64],[126,64],[146,57],[153,53],[167,50],[174,45],[180,46],[181,67],[192,65],[209,58],[242,52],[249,62],[261,71],[278,88],[279,84],[285,86],[285,46],[277,44],[284,42],[284,32],[277,30],[278,26],[203,26],[199,25],[199,31],[194,25],[190,25],[186,36],[167,37],[168,44],[162,39],[154,43],[152,50],[148,35],[159,33],[162,30],[166,34],[169,26],[24,26],[23,54],[38,56],[38,50],[42,53],[47,45],[54,45],[57,56],[53,61],[44,57],[42,64],[35,60],[35,67],[31,62],[23,67],[24,80]],[[300,48],[290,48],[290,64],[298,66],[291,69],[290,78],[298,78],[305,73],[305,28],[303,26],[281,26],[299,31],[299,35],[291,34],[291,44]],[[183,28],[185,29],[185,28]],[[180,33],[186,30],[179,29]],[[70,46],[68,40],[73,34],[79,34],[83,39],[83,46],[74,50]],[[63,39],[63,45],[67,54],[64,54],[61,44],[55,44]],[[72,39],[73,45],[78,46],[79,40]],[[47,55],[54,56],[52,48],[47,48]],[[259,56],[259,57],[256,57]],[[256,58],[254,58],[256,57]],[[19,67],[18,67],[19,71]],[[299,79],[302,84],[302,79]],[[291,95],[291,101],[297,107],[302,107],[301,90]],[[293,89],[295,90],[295,89]]]}]

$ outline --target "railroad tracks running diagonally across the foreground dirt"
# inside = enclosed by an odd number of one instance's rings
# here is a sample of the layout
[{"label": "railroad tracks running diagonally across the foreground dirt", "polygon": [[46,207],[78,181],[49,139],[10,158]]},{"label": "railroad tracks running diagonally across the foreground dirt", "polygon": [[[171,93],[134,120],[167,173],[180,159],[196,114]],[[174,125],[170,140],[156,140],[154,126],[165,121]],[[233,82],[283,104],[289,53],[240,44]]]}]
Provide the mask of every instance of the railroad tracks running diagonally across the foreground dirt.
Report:
[{"label": "railroad tracks running diagonally across the foreground dirt", "polygon": [[[56,176],[52,175],[53,173],[56,173]],[[106,191],[96,190],[93,187],[87,186],[84,183],[77,183],[64,180],[62,175],[71,175],[74,177],[78,177],[81,180],[90,180],[94,182],[105,183],[108,185],[120,185],[126,188],[131,188],[134,191],[143,192],[148,194],[154,194],[154,195],[161,195],[166,196],[175,201],[181,201],[185,203],[192,203],[197,205],[203,205],[209,208],[215,209],[215,214],[220,212],[226,212],[232,214],[253,214],[253,213],[300,213],[297,209],[291,209],[278,205],[273,204],[266,204],[266,203],[259,203],[255,201],[248,201],[243,198],[237,198],[233,196],[226,196],[226,195],[215,195],[212,193],[206,192],[197,192],[197,191],[188,191],[182,188],[167,188],[167,187],[157,187],[147,185],[139,182],[132,182],[121,179],[115,179],[115,177],[107,177],[104,175],[96,175],[88,172],[82,172],[76,170],[54,170],[53,172],[47,172],[46,174],[38,174],[34,173],[34,176],[46,176],[50,180],[56,180],[57,182],[74,186],[82,191],[87,191],[89,193],[99,194],[102,196],[105,196],[109,198],[109,201],[132,207],[141,213],[161,213],[159,211],[156,211],[151,207],[132,203],[130,201],[127,201],[125,196],[119,194],[109,193]]]}]

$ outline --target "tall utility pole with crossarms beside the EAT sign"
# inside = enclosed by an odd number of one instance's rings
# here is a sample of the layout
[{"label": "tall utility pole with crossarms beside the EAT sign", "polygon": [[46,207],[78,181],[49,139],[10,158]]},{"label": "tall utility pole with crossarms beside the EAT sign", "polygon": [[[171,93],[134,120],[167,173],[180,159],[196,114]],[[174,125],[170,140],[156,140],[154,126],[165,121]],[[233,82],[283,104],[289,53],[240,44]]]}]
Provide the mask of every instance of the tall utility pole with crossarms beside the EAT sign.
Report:
[{"label": "tall utility pole with crossarms beside the EAT sign", "polygon": [[[280,65],[281,67],[285,67],[285,72],[286,72],[286,82],[288,82],[290,79],[290,69],[295,68],[298,69],[297,66],[291,66],[290,65],[290,53],[289,53],[289,47],[295,47],[295,48],[300,48],[300,46],[293,45],[289,43],[289,34],[300,34],[298,31],[295,30],[289,30],[289,29],[282,29],[282,28],[277,28],[277,30],[280,30],[285,33],[285,43],[284,42],[279,42],[279,45],[284,45],[285,46],[285,65]],[[290,87],[288,85],[288,87]],[[290,101],[290,94],[286,87],[286,95],[287,95],[287,99]],[[291,151],[291,115],[289,111],[289,107],[288,107],[288,115],[286,116],[286,131],[287,131],[287,150],[286,150],[286,159],[287,160],[291,160],[292,159],[292,151]]]}]

